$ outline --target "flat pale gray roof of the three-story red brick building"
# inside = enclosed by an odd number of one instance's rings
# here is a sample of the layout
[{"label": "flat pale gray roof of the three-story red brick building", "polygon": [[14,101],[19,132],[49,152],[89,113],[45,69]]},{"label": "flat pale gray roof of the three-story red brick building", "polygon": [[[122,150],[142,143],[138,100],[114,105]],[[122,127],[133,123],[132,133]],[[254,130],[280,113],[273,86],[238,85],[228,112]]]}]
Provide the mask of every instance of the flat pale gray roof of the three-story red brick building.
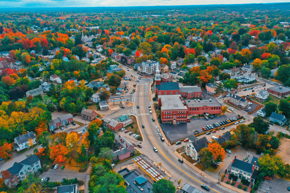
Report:
[{"label": "flat pale gray roof of the three-story red brick building", "polygon": [[159,95],[159,98],[162,103],[161,110],[187,110],[180,100],[180,95]]}]

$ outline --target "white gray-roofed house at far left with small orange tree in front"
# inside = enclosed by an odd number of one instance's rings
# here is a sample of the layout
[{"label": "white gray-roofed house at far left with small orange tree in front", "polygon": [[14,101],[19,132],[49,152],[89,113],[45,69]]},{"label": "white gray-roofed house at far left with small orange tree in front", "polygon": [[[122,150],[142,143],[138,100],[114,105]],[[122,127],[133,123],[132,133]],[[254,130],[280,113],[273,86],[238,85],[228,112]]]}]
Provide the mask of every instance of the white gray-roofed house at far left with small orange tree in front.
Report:
[{"label": "white gray-roofed house at far left with small orange tree in front", "polygon": [[25,148],[29,149],[32,143],[33,145],[36,144],[36,137],[35,134],[31,132],[27,132],[23,135],[14,138],[14,149],[17,151],[23,150]]}]

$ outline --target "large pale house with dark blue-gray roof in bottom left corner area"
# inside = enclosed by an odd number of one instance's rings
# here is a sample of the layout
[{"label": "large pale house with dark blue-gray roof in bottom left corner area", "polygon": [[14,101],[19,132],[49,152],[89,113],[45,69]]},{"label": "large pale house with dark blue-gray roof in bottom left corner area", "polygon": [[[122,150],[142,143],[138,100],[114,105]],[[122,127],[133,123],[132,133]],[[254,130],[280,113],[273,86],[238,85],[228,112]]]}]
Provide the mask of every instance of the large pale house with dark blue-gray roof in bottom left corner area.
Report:
[{"label": "large pale house with dark blue-gray roof in bottom left corner area", "polygon": [[[20,162],[14,162],[13,166],[8,168],[7,171],[12,176],[17,176],[19,181],[26,179],[29,173],[36,173],[41,169],[39,158],[32,154],[28,158],[21,160]],[[15,184],[17,185],[18,182]]]}]

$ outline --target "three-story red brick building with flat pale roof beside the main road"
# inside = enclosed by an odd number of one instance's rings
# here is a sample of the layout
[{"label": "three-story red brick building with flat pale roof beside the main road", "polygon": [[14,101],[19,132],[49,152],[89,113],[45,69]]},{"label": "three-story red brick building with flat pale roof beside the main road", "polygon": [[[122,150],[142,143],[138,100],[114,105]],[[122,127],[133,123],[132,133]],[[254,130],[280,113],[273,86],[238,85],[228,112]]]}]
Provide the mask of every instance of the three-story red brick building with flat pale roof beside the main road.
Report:
[{"label": "three-story red brick building with flat pale roof beside the main road", "polygon": [[188,109],[183,105],[180,95],[159,95],[162,123],[187,123]]}]

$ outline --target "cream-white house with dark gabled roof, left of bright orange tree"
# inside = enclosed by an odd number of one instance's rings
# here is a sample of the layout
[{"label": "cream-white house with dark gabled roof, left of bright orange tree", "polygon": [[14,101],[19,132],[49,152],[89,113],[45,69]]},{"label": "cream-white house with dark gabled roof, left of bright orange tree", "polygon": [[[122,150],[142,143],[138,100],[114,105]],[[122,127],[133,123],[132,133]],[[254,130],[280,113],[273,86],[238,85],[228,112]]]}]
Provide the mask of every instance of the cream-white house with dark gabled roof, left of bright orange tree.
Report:
[{"label": "cream-white house with dark gabled roof, left of bright orange tree", "polygon": [[186,155],[190,156],[193,160],[200,161],[199,152],[202,148],[207,147],[207,145],[208,141],[206,137],[194,139],[194,141],[185,145]]}]

